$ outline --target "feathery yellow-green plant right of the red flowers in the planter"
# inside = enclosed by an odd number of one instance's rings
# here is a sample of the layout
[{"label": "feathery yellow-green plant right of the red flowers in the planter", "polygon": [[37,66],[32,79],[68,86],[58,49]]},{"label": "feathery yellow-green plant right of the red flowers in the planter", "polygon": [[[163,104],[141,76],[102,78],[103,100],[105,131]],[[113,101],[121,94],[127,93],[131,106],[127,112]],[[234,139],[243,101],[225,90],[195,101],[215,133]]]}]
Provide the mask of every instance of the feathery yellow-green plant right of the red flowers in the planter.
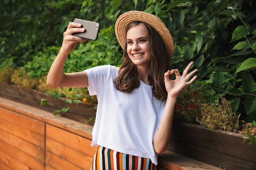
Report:
[{"label": "feathery yellow-green plant right of the red flowers in the planter", "polygon": [[239,129],[239,117],[231,109],[227,99],[220,96],[220,100],[215,100],[214,103],[202,104],[202,118],[197,119],[202,126],[211,129],[223,129],[233,131]]}]

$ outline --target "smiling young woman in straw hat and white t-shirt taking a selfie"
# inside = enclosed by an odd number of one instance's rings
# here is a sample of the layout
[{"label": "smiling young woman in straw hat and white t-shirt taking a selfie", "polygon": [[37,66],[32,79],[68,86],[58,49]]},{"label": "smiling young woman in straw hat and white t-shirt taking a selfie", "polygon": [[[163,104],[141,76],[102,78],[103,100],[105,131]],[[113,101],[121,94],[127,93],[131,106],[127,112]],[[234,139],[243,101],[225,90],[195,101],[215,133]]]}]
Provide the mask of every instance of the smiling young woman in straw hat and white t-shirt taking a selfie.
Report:
[{"label": "smiling young woman in straw hat and white t-shirt taking a selfie", "polygon": [[[155,15],[129,11],[116,22],[117,40],[124,49],[124,62],[97,66],[78,73],[63,73],[67,55],[85,39],[81,24],[70,22],[60,52],[47,77],[55,87],[88,87],[97,95],[98,107],[92,146],[98,146],[93,170],[153,170],[157,154],[166,150],[171,137],[177,95],[197,76],[189,73],[193,62],[180,75],[169,69],[173,40]],[[169,79],[175,74],[176,79]]]}]

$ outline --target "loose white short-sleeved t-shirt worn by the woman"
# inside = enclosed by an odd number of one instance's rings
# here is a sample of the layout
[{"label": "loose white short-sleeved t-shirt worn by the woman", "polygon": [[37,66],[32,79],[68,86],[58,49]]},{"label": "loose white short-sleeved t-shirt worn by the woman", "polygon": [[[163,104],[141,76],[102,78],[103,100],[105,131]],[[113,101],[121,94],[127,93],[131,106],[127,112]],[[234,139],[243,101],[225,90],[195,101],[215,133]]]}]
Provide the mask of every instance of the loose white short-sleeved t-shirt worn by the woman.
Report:
[{"label": "loose white short-sleeved t-shirt worn by the woman", "polygon": [[105,65],[85,70],[89,93],[98,99],[92,146],[150,158],[157,165],[153,139],[166,101],[157,100],[152,86],[142,81],[131,93],[118,91],[114,84],[118,69]]}]

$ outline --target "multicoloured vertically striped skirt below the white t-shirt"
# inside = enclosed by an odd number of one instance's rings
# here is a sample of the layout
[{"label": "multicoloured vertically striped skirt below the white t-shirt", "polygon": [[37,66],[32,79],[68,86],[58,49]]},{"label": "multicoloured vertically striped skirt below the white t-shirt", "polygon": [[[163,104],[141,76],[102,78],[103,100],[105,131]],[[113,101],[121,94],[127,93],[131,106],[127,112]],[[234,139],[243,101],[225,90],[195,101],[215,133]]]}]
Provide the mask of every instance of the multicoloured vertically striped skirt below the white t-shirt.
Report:
[{"label": "multicoloured vertically striped skirt below the white t-shirt", "polygon": [[149,158],[123,154],[99,146],[91,170],[157,170],[157,166]]}]

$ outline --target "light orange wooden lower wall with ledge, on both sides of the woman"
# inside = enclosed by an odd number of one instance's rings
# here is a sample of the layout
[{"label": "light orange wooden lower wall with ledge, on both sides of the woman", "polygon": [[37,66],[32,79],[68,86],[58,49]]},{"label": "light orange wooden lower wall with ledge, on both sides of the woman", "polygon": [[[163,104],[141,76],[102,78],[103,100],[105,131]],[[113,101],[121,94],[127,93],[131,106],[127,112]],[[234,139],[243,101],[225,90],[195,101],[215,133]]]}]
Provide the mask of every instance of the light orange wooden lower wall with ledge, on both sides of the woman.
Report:
[{"label": "light orange wooden lower wall with ledge, on both sides of the woman", "polygon": [[[0,170],[90,170],[92,126],[0,97]],[[221,170],[166,151],[158,170]]]}]

